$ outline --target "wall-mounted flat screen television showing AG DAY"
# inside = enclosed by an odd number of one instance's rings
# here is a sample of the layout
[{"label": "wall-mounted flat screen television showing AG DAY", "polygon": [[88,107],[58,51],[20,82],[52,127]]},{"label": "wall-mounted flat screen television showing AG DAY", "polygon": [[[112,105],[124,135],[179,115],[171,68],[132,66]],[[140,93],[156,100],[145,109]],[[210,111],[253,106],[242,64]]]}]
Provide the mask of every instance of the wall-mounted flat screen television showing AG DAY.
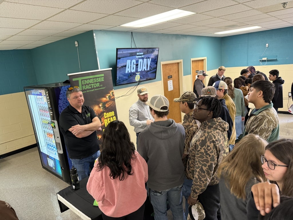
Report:
[{"label": "wall-mounted flat screen television showing AG DAY", "polygon": [[159,48],[117,48],[116,86],[156,79]]}]

